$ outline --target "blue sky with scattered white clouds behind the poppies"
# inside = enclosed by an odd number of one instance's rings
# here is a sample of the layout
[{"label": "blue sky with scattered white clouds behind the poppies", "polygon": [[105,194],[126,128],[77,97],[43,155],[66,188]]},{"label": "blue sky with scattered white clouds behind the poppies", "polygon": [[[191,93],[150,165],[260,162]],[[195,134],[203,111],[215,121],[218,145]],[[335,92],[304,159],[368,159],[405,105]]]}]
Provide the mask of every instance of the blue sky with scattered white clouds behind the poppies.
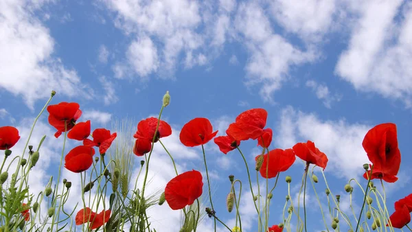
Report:
[{"label": "blue sky with scattered white clouds behind the poppies", "polygon": [[[124,117],[137,124],[157,115],[161,97],[170,91],[163,116],[174,133],[165,143],[181,172],[204,170],[201,150],[179,144],[181,127],[194,117],[207,117],[222,135],[239,113],[265,108],[266,126],[274,132],[271,148],[314,141],[330,159],[326,173],[332,192],[347,196],[343,186],[350,178],[365,185],[360,178],[367,162],[361,146],[365,133],[390,121],[398,125],[402,164],[399,181],[387,186],[389,212],[395,200],[411,193],[409,1],[6,0],[0,3],[0,19],[0,124],[18,126],[22,135],[52,89],[58,93],[53,104],[79,102],[80,121],[91,119],[93,128],[110,127]],[[39,127],[35,139],[47,134],[50,156],[42,159],[38,172],[54,173],[61,146],[52,137],[47,114]],[[250,200],[239,154],[225,155],[216,148],[207,145],[215,204],[225,202],[229,174],[242,180],[243,200]],[[260,153],[255,141],[242,143],[242,150],[253,165]],[[162,168],[170,166],[167,154],[160,148],[155,154],[159,163],[150,172],[157,180],[153,191],[173,176],[172,169]],[[299,162],[286,172],[294,180],[304,168]],[[280,200],[273,202],[269,224],[281,222],[286,174],[279,178],[282,185],[275,196]],[[37,180],[34,189],[46,182]],[[320,182],[317,191],[323,193]],[[293,193],[299,181],[294,184]],[[320,231],[319,207],[308,189],[315,220],[310,231]],[[249,203],[242,205],[246,218],[254,216]],[[355,208],[359,205],[361,196]],[[179,213],[159,216],[165,208],[152,212],[155,227],[178,228]],[[224,207],[218,213],[233,222]],[[247,220],[245,231],[254,225]]]}]

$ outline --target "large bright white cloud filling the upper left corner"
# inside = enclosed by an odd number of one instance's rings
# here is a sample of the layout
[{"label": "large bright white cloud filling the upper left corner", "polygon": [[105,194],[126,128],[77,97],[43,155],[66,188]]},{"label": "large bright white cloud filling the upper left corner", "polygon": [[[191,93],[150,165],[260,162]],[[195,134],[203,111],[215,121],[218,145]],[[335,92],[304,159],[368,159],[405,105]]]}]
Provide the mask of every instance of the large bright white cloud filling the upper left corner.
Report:
[{"label": "large bright white cloud filling the upper left corner", "polygon": [[[34,16],[44,1],[1,1],[0,88],[23,97],[33,109],[36,100],[50,91],[69,97],[91,98],[93,92],[82,84],[73,69],[54,57],[54,40],[49,30]],[[30,91],[28,91],[30,89]]]}]

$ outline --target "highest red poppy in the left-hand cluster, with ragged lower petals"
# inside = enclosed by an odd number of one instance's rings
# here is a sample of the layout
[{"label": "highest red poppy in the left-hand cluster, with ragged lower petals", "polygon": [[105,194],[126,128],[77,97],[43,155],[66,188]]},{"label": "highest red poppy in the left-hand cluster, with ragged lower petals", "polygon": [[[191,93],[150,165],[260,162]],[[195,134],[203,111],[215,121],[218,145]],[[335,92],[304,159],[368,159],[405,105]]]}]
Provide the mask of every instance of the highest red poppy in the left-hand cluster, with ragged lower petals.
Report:
[{"label": "highest red poppy in the left-hand cluster, with ragged lower petals", "polygon": [[76,102],[60,102],[56,105],[47,106],[49,112],[49,124],[56,128],[57,132],[54,137],[58,138],[62,132],[73,128],[74,123],[82,115],[80,106]]}]

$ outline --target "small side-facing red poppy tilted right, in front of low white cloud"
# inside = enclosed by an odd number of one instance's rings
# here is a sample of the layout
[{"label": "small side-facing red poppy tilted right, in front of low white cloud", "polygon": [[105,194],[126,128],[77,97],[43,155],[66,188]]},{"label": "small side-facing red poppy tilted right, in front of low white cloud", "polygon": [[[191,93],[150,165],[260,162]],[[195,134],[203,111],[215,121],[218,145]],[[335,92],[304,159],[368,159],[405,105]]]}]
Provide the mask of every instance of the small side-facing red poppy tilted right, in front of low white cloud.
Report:
[{"label": "small side-facing red poppy tilted right, in front of low white cloud", "polygon": [[293,152],[304,161],[308,163],[313,163],[319,167],[323,167],[325,170],[328,164],[328,157],[325,153],[321,152],[318,148],[314,146],[314,143],[310,140],[306,143],[296,143],[293,146]]}]

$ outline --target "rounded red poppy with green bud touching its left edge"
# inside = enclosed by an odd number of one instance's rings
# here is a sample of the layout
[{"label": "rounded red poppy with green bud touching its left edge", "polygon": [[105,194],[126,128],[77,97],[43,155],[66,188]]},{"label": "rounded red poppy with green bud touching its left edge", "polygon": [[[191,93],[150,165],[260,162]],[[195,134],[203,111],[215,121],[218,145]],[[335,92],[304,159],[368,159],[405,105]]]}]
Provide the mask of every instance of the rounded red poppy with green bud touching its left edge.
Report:
[{"label": "rounded red poppy with green bud touching its left edge", "polygon": [[[259,156],[256,156],[255,160],[258,160]],[[267,161],[269,159],[269,163]],[[264,178],[273,178],[277,176],[279,172],[285,172],[290,166],[295,163],[296,156],[292,149],[275,149],[263,155],[262,167],[260,167],[260,175]],[[266,177],[266,166],[268,167]]]}]

